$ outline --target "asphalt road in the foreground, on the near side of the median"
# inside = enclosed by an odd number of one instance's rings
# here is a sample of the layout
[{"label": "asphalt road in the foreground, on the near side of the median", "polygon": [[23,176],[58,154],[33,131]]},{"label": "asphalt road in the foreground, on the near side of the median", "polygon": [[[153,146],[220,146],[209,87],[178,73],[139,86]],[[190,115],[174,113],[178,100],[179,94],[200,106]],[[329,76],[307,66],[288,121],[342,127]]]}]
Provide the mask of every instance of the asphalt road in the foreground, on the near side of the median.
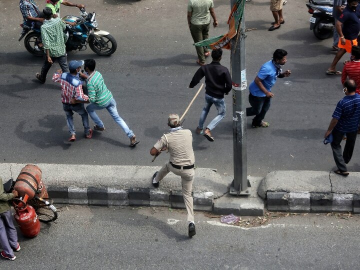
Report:
[{"label": "asphalt road in the foreground, on the near side of the median", "polygon": [[0,259],[1,269],[358,268],[358,215],[289,215],[243,228],[196,212],[192,238],[185,219],[184,210],[162,207],[63,205],[35,238],[19,233],[21,250]]}]

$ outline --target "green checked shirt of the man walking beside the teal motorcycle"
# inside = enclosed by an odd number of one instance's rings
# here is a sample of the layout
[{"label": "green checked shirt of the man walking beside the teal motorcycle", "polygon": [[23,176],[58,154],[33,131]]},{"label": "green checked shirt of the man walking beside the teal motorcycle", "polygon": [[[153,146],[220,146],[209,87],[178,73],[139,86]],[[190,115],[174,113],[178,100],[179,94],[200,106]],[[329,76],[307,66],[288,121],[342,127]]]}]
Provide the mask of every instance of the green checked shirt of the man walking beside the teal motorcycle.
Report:
[{"label": "green checked shirt of the man walking beside the teal motorcycle", "polygon": [[66,24],[61,18],[51,18],[45,20],[41,25],[41,37],[43,48],[49,50],[52,57],[65,55],[65,37],[63,30]]}]

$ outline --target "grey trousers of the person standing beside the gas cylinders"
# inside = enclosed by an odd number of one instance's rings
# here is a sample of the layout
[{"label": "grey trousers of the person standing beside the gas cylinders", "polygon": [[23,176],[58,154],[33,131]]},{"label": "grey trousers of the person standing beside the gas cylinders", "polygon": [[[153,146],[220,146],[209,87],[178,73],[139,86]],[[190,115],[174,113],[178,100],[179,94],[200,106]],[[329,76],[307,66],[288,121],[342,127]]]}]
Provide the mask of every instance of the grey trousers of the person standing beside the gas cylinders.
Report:
[{"label": "grey trousers of the person standing beside the gas cylinders", "polygon": [[11,247],[17,247],[17,232],[10,210],[0,213],[0,244],[6,255],[13,257],[14,254]]}]

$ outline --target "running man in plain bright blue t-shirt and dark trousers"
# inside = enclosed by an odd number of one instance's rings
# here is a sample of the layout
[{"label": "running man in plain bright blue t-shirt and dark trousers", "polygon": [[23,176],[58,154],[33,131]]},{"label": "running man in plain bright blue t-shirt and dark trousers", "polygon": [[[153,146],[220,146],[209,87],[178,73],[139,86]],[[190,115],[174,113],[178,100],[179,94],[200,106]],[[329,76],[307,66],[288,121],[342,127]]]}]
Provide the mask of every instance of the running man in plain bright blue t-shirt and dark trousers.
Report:
[{"label": "running man in plain bright blue t-shirt and dark trousers", "polygon": [[290,70],[282,72],[281,65],[286,63],[287,52],[284,49],[276,49],[272,60],[264,63],[257,73],[255,79],[249,85],[249,103],[251,107],[246,108],[246,116],[255,115],[252,119],[252,127],[267,127],[268,122],[262,121],[270,107],[270,99],[274,96],[271,87],[277,78],[288,77]]}]

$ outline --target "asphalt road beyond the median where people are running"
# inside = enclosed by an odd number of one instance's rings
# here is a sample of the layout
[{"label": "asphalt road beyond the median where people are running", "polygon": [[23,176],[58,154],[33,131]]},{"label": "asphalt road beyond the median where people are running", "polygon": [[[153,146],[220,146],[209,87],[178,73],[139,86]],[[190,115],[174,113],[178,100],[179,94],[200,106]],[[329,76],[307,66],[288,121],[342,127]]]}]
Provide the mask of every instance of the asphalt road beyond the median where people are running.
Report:
[{"label": "asphalt road beyond the median where people are running", "polygon": [[[273,170],[330,170],[334,161],[323,134],[337,101],[342,98],[339,76],[325,74],[333,59],[331,38],[318,40],[309,30],[306,0],[287,1],[283,7],[285,23],[267,31],[273,21],[268,0],[246,3],[246,27],[256,28],[246,37],[247,84],[261,64],[276,48],[288,51],[284,68],[291,76],[280,78],[265,120],[267,128],[251,128],[247,117],[248,174],[264,176]],[[43,3],[37,1],[42,8]],[[100,29],[117,40],[117,50],[101,57],[89,48],[68,53],[68,60],[94,58],[96,69],[112,91],[120,115],[140,143],[128,147],[129,139],[105,111],[98,114],[106,131],[94,132],[90,140],[82,137],[80,116],[75,115],[77,140],[67,142],[65,114],[60,87],[50,79],[58,68],[55,63],[45,84],[35,79],[41,57],[30,55],[17,41],[22,19],[17,1],[0,1],[0,161],[22,163],[160,165],[161,154],[152,163],[149,149],[167,131],[167,114],[182,114],[197,88],[187,86],[196,65],[195,48],[186,22],[187,0],[87,0],[87,11],[97,13]],[[227,32],[228,0],[214,0],[220,25],[210,36]],[[75,7],[61,6],[61,16],[78,14]],[[348,59],[349,55],[342,60]],[[342,60],[337,69],[342,69]],[[210,59],[207,59],[210,62]],[[224,51],[221,63],[230,66],[230,52]],[[202,92],[186,114],[183,126],[194,130],[204,103]],[[215,141],[193,135],[196,163],[200,167],[233,174],[232,103],[226,96],[227,115],[213,130]],[[206,123],[216,114],[211,108]],[[92,124],[90,120],[90,124]],[[359,165],[355,146],[350,171]]]}]

